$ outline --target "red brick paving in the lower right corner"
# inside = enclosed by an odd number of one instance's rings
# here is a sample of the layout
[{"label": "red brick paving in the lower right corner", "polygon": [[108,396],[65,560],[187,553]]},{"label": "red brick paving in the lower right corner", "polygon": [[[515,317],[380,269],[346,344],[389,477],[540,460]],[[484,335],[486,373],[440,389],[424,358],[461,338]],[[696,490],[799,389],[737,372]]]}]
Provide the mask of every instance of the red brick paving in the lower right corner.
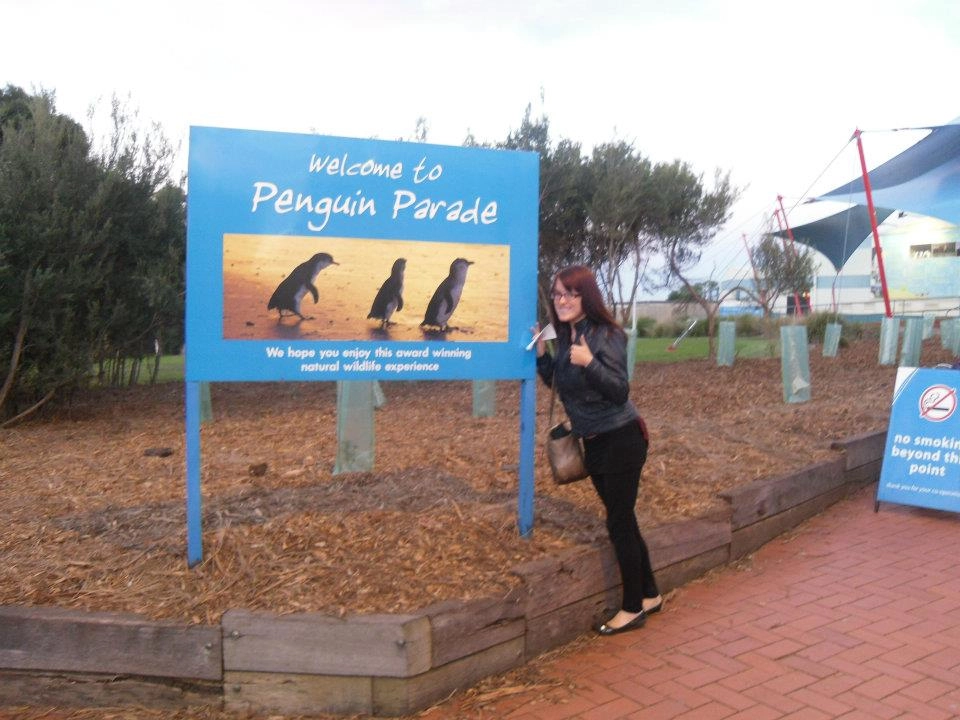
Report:
[{"label": "red brick paving in the lower right corner", "polygon": [[960,718],[960,515],[876,486],[424,720]]}]

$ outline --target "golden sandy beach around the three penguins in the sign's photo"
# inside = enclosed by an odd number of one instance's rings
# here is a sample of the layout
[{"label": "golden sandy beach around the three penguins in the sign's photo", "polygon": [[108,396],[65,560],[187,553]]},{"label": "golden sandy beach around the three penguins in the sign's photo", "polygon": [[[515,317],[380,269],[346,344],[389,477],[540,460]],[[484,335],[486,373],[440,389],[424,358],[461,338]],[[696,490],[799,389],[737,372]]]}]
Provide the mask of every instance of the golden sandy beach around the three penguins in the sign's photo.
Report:
[{"label": "golden sandy beach around the three penguins in the sign's photo", "polygon": [[[278,321],[267,303],[277,285],[300,263],[325,252],[338,263],[322,270],[301,312]],[[394,260],[406,258],[403,309],[393,325],[367,319]],[[463,296],[445,333],[420,327],[440,282],[457,258],[473,261]],[[509,318],[510,247],[411,240],[367,240],[281,235],[224,235],[223,337],[228,340],[450,340],[506,342]]]}]

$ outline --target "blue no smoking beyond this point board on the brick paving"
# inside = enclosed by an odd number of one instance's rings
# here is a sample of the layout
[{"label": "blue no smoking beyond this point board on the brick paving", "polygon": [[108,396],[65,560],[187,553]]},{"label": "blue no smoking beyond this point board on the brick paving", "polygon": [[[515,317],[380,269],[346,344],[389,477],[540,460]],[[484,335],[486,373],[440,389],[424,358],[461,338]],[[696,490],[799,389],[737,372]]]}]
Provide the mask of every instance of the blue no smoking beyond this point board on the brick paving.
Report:
[{"label": "blue no smoking beyond this point board on the brick paving", "polygon": [[960,512],[960,371],[899,368],[877,500]]}]

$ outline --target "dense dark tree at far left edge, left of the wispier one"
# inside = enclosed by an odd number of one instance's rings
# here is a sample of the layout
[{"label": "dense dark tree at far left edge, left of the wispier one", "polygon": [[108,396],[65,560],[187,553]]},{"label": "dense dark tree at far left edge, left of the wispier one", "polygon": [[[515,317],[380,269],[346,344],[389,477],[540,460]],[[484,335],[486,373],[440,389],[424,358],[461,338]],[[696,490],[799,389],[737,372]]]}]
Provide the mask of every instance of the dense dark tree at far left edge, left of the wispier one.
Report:
[{"label": "dense dark tree at far left edge, left of the wispier one", "polygon": [[8,87],[0,108],[0,412],[18,415],[89,371],[100,246],[86,221],[97,167],[52,95]]}]

